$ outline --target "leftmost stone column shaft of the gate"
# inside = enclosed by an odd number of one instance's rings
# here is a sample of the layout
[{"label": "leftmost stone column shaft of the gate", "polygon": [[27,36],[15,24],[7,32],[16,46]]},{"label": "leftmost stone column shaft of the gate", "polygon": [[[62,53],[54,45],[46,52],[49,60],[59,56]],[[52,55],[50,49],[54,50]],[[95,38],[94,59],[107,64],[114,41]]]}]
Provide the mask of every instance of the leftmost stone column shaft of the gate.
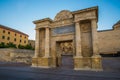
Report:
[{"label": "leftmost stone column shaft of the gate", "polygon": [[36,29],[36,40],[35,40],[35,55],[34,55],[34,57],[35,58],[37,58],[37,57],[39,57],[39,53],[40,53],[40,51],[39,51],[39,49],[40,49],[40,47],[39,47],[39,43],[40,43],[40,31],[39,31],[39,29]]}]

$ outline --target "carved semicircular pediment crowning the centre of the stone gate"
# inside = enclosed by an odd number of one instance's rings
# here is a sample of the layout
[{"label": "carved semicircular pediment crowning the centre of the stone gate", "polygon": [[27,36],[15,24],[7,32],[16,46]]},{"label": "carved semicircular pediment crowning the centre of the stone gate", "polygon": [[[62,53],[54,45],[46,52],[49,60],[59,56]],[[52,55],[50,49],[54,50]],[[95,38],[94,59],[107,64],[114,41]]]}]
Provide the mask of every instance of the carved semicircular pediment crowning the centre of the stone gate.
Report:
[{"label": "carved semicircular pediment crowning the centre of the stone gate", "polygon": [[60,21],[69,18],[73,18],[72,13],[68,10],[62,10],[55,16],[54,21]]}]

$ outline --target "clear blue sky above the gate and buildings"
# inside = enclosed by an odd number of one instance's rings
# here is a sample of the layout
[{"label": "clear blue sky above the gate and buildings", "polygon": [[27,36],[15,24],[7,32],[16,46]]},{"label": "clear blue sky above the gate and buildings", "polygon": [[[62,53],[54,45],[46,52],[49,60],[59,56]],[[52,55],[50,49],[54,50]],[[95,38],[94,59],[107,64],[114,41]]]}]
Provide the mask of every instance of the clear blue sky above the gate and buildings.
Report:
[{"label": "clear blue sky above the gate and buildings", "polygon": [[120,20],[120,0],[0,0],[0,24],[20,30],[35,39],[34,20],[54,19],[61,10],[99,7],[98,30],[112,29]]}]

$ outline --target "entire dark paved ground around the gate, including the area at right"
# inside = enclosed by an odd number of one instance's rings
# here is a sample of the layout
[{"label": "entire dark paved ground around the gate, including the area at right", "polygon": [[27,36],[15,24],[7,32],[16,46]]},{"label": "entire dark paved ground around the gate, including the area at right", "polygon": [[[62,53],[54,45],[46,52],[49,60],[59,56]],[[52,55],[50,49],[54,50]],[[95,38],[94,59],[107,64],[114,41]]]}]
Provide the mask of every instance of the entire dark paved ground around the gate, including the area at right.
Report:
[{"label": "entire dark paved ground around the gate, including the area at right", "polygon": [[[8,64],[8,63],[7,63]],[[18,63],[0,64],[0,80],[120,80],[120,58],[103,58],[103,71],[32,68]]]}]

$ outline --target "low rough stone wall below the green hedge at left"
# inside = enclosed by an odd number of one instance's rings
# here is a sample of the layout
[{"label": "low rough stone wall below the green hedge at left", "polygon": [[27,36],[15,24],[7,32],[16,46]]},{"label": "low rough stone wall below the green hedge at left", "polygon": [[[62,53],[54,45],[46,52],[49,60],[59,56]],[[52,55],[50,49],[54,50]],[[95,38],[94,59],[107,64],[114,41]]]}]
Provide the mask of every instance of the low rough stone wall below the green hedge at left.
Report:
[{"label": "low rough stone wall below the green hedge at left", "polygon": [[31,64],[32,57],[34,56],[33,50],[25,49],[0,49],[0,61],[7,62],[24,62]]}]

